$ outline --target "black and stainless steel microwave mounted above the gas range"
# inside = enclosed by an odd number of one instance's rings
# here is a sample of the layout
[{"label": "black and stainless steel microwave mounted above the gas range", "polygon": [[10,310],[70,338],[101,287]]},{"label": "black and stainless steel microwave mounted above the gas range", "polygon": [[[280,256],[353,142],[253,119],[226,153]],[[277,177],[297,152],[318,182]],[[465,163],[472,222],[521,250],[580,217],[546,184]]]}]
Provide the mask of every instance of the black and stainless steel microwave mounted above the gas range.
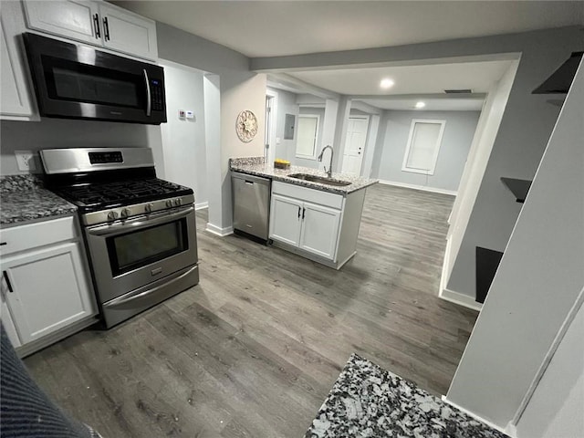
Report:
[{"label": "black and stainless steel microwave mounted above the gas range", "polygon": [[24,40],[41,116],[166,121],[162,67],[31,33]]}]

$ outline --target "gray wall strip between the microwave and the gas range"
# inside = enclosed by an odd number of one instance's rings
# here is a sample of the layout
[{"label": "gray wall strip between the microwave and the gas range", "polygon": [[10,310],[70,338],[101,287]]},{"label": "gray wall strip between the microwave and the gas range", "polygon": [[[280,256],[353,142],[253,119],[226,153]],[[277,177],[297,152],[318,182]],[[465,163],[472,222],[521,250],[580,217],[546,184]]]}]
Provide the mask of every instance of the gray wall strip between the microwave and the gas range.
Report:
[{"label": "gray wall strip between the microwave and the gas range", "polygon": [[[0,173],[18,171],[14,151],[55,148],[150,147],[156,172],[164,177],[161,128],[156,125],[94,120],[42,118],[41,121],[0,121]],[[37,171],[42,173],[38,158]]]}]

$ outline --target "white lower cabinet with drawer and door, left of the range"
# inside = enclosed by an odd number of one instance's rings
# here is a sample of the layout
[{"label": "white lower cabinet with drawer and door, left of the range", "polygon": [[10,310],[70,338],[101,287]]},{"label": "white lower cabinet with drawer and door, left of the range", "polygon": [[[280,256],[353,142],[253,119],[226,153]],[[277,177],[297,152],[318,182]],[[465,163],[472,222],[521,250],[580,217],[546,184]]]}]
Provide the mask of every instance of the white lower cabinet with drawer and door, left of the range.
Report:
[{"label": "white lower cabinet with drawer and door, left of the range", "polygon": [[29,346],[26,353],[95,322],[98,314],[73,221],[1,230],[2,322],[15,347]]}]

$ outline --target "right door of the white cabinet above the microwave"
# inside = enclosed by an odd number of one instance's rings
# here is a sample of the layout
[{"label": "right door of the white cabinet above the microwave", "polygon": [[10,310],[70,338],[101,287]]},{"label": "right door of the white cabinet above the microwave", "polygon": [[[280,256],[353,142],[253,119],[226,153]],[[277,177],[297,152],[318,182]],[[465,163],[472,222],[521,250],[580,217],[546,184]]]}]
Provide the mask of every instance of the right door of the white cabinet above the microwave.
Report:
[{"label": "right door of the white cabinet above the microwave", "polygon": [[158,58],[156,23],[112,5],[99,5],[103,45],[147,59]]}]

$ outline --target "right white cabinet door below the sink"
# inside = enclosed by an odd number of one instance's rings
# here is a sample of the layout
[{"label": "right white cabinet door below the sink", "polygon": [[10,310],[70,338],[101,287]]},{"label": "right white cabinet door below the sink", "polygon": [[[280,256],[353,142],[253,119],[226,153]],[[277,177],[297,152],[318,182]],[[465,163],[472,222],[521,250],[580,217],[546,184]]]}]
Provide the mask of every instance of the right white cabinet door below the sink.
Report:
[{"label": "right white cabinet door below the sink", "polygon": [[304,203],[301,249],[333,260],[339,237],[340,210]]}]

